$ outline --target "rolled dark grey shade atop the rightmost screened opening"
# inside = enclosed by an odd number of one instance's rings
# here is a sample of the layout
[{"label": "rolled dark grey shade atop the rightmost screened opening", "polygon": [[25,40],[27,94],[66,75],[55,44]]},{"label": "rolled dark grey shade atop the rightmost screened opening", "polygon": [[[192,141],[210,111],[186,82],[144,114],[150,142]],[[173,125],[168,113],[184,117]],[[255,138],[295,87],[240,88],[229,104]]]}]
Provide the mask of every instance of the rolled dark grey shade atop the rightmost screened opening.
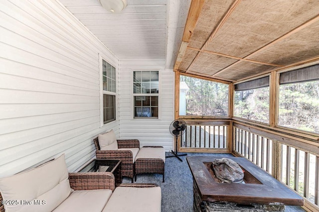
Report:
[{"label": "rolled dark grey shade atop the rightmost screened opening", "polygon": [[319,80],[319,64],[280,74],[280,84]]}]

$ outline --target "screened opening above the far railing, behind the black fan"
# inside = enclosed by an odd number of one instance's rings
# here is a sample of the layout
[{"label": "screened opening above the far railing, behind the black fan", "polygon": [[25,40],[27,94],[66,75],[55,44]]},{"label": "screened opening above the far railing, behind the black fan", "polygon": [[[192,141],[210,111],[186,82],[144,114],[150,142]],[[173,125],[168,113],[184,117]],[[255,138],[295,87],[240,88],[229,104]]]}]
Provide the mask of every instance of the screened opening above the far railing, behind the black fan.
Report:
[{"label": "screened opening above the far railing, behind the black fan", "polygon": [[227,116],[229,86],[180,75],[179,115]]}]

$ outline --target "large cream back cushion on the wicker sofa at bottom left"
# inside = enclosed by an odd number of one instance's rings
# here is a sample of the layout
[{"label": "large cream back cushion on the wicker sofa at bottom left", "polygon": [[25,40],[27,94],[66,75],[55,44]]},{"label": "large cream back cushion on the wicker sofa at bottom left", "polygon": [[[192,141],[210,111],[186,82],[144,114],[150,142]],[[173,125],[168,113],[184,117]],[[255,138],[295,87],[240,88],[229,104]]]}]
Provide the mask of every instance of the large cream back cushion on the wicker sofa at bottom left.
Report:
[{"label": "large cream back cushion on the wicker sofa at bottom left", "polygon": [[51,212],[73,191],[64,154],[41,166],[0,179],[3,200],[19,204],[4,205],[5,212]]}]

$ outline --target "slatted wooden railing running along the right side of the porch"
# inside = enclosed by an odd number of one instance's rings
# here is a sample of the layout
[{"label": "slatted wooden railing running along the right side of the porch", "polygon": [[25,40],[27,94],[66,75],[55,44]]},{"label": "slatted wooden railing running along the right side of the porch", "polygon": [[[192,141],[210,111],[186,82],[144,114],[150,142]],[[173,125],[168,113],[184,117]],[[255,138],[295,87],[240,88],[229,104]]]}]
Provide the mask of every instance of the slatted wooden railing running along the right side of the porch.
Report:
[{"label": "slatted wooden railing running along the right side of the porch", "polygon": [[305,145],[300,139],[280,134],[233,123],[233,153],[252,161],[305,197],[308,209],[319,211],[319,155],[315,152],[319,145],[309,141]]}]

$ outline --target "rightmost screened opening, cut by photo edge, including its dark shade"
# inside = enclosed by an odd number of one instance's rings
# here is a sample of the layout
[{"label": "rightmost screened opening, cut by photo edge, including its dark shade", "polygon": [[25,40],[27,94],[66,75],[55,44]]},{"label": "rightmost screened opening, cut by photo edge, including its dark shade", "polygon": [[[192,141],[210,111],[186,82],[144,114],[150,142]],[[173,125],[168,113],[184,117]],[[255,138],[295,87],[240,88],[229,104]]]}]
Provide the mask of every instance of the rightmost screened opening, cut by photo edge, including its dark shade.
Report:
[{"label": "rightmost screened opening, cut by photo edge, including its dark shade", "polygon": [[319,133],[319,65],[280,74],[278,124]]}]

